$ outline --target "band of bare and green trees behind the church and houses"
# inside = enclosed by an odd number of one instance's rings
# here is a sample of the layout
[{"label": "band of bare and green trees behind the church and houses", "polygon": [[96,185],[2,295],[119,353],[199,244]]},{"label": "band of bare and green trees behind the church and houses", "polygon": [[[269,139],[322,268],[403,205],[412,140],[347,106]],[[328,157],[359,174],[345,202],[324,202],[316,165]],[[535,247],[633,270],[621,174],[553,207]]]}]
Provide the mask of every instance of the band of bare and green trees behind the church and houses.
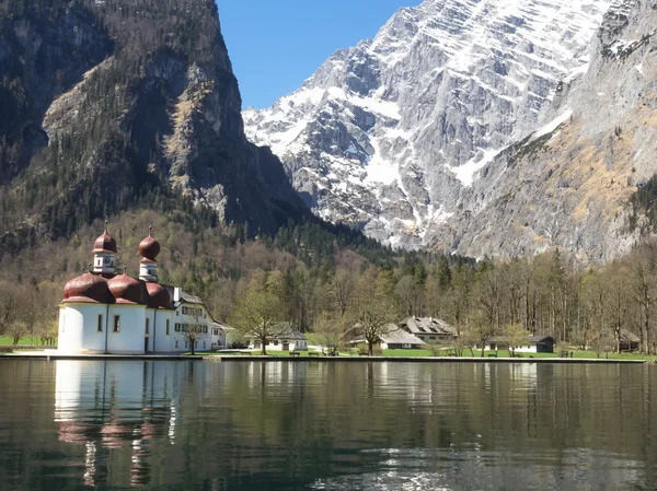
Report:
[{"label": "band of bare and green trees behind the church and houses", "polygon": [[[476,262],[457,256],[395,256],[376,243],[358,242],[355,237],[361,236],[353,232],[327,233],[310,223],[255,239],[241,225],[197,223],[151,210],[114,218],[110,231],[118,243],[119,268],[137,274],[137,246],[152,224],[162,245],[160,281],[200,295],[222,322],[239,323],[244,302],[267,295],[279,306],[277,322],[303,331],[343,332],[367,297],[384,306],[390,320],[442,318],[468,346],[529,331],[604,352],[633,332],[644,352],[657,353],[654,243],[604,266],[583,265],[556,249],[534,258]],[[96,221],[71,241],[3,256],[0,329],[8,335],[53,332],[64,284],[91,260],[91,244],[102,226]]]}]

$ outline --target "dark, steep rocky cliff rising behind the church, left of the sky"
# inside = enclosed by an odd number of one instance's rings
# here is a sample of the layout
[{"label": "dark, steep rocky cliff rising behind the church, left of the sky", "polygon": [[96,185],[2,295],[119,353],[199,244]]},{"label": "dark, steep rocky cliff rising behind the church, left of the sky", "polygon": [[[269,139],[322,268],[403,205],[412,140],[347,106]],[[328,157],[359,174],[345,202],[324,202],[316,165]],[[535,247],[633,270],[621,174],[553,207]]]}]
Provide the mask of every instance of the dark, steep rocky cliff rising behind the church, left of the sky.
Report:
[{"label": "dark, steep rocky cliff rising behind the church, left of the sky", "polygon": [[309,213],[244,136],[214,1],[23,3],[0,5],[0,235],[173,192],[252,231]]}]

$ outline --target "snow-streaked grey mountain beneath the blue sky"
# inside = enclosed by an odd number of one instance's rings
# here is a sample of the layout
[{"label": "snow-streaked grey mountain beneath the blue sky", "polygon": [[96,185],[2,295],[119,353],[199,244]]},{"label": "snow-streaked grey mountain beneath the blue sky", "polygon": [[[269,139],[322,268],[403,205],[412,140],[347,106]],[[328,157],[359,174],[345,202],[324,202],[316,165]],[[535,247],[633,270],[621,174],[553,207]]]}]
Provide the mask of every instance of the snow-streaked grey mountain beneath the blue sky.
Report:
[{"label": "snow-streaked grey mountain beneath the blue sky", "polygon": [[[333,54],[272,107],[243,112],[331,221],[395,246],[433,242],[486,164],[555,117],[612,0],[426,0]],[[553,124],[558,124],[558,120]],[[486,167],[487,168],[487,167]]]}]

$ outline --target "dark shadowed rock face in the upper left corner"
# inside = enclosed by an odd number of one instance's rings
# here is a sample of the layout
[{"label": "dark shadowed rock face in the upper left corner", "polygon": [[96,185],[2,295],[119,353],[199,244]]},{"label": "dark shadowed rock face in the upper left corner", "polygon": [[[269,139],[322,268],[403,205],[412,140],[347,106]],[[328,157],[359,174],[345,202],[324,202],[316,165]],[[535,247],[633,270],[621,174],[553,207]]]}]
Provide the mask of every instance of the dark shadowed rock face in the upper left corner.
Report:
[{"label": "dark shadowed rock face in the upper left corner", "polygon": [[53,100],[112,49],[112,39],[84,11],[57,9],[53,15],[42,11],[0,20],[0,135],[19,153],[0,159],[0,184],[48,143],[41,122]]}]

